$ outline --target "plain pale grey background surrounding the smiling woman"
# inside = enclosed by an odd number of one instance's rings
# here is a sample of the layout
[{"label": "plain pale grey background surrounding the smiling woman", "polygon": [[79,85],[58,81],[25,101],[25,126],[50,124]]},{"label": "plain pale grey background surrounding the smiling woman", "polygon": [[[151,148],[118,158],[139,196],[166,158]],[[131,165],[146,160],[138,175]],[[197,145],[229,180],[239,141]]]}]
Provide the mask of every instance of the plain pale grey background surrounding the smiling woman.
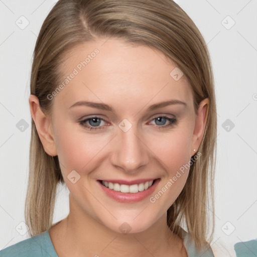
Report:
[{"label": "plain pale grey background surrounding the smiling woman", "polygon": [[[55,2],[0,0],[0,249],[29,237],[24,204],[30,71],[37,35]],[[211,54],[218,112],[211,246],[215,256],[235,256],[236,242],[257,238],[257,1],[175,2],[195,22]],[[68,212],[68,189],[60,187],[54,222]]]}]

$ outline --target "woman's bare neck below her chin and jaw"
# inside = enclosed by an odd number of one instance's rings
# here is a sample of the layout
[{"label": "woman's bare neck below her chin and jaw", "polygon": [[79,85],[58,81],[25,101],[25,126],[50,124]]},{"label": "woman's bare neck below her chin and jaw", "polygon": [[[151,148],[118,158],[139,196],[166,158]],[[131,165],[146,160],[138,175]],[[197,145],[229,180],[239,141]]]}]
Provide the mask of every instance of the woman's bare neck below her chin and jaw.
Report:
[{"label": "woman's bare neck below her chin and jaw", "polygon": [[180,256],[183,240],[169,229],[166,219],[165,213],[145,231],[117,233],[70,200],[70,213],[58,224],[59,238],[65,255],[72,249],[73,256]]}]

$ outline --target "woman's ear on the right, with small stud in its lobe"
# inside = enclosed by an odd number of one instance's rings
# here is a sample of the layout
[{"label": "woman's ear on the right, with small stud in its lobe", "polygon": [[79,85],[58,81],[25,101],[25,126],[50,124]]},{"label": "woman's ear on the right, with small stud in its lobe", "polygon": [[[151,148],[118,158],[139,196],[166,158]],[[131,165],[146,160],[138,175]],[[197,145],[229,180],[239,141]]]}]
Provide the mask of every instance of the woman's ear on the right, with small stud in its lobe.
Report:
[{"label": "woman's ear on the right, with small stud in its lobe", "polygon": [[[195,155],[202,141],[204,129],[207,121],[208,111],[209,111],[209,99],[205,98],[200,102],[198,111],[197,111],[195,129],[194,129],[192,143],[191,143],[193,148],[191,150],[191,156]],[[194,149],[196,149],[196,152],[193,151]]]}]

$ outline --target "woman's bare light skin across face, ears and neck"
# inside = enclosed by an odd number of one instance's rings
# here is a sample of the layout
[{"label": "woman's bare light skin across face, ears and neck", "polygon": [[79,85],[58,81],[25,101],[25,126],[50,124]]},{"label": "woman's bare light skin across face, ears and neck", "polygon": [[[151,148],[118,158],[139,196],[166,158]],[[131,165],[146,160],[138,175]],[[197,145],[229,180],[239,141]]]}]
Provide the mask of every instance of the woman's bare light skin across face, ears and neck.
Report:
[{"label": "woman's bare light skin across face, ears and neck", "polygon": [[[30,96],[30,109],[47,154],[58,155],[66,186],[70,191],[70,213],[49,229],[55,250],[65,256],[171,256],[186,257],[182,238],[167,225],[167,210],[183,189],[189,169],[155,202],[149,197],[135,203],[118,202],[107,196],[97,180],[160,178],[154,193],[167,187],[169,179],[190,162],[198,149],[206,124],[208,99],[198,112],[193,94],[182,76],[175,80],[176,67],[161,52],[146,46],[127,45],[120,40],[98,39],[67,54],[64,78],[98,49],[99,53],[54,96],[53,112],[46,116],[38,98]],[[105,43],[104,43],[105,42]],[[104,44],[103,44],[104,43]],[[147,110],[153,104],[177,99],[186,103]],[[113,111],[81,105],[78,101],[108,104]],[[80,124],[99,117],[89,130]],[[157,117],[167,118],[164,126]],[[131,129],[118,126],[127,119]],[[93,123],[86,121],[93,127]],[[71,183],[75,170],[80,178]],[[120,226],[130,225],[124,234]]]}]

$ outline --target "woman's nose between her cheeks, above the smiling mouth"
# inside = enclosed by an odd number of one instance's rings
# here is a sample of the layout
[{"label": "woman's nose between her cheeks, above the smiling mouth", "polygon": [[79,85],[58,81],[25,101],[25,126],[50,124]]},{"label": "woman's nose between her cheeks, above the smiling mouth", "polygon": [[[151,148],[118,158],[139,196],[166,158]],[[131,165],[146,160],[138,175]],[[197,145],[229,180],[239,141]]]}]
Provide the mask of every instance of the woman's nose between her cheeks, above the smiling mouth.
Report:
[{"label": "woman's nose between her cheeks, above the smiling mouth", "polygon": [[110,158],[112,165],[132,173],[149,163],[150,150],[136,126],[132,126],[127,132],[118,130],[114,141]]}]

